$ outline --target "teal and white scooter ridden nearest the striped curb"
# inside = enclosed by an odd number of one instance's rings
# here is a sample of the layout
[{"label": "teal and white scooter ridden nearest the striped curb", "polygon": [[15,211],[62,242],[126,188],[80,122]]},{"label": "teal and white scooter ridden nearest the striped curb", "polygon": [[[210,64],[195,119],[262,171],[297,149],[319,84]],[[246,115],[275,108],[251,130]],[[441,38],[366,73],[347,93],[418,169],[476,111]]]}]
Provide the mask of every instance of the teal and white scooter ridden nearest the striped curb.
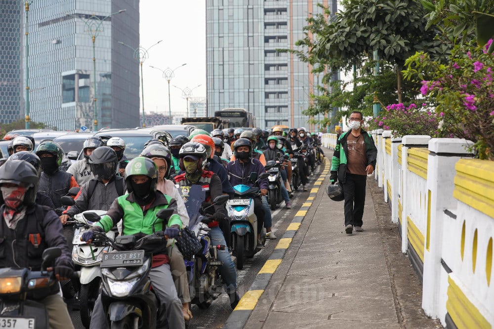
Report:
[{"label": "teal and white scooter ridden nearest the striped curb", "polygon": [[[251,173],[249,182],[266,179],[270,174],[262,173],[257,178],[257,173]],[[233,199],[226,202],[228,217],[232,219],[231,225],[231,247],[233,255],[237,256],[237,268],[244,268],[244,257],[252,257],[259,250],[257,249],[257,217],[254,214],[253,197],[259,195],[258,187],[250,187],[244,184],[233,186],[235,195]],[[261,232],[261,243],[266,241],[266,232]]]}]

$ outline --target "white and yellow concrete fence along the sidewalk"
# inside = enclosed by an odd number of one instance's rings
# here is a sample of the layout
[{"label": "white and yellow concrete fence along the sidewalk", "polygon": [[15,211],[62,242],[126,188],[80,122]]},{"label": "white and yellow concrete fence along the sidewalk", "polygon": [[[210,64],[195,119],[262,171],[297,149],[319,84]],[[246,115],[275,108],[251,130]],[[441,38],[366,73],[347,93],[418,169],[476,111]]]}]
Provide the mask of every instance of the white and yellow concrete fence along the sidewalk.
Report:
[{"label": "white and yellow concrete fence along the sidewalk", "polygon": [[[493,328],[494,161],[473,159],[465,140],[371,136],[374,178],[422,280],[425,313],[448,328]],[[336,134],[322,142],[333,148]]]}]

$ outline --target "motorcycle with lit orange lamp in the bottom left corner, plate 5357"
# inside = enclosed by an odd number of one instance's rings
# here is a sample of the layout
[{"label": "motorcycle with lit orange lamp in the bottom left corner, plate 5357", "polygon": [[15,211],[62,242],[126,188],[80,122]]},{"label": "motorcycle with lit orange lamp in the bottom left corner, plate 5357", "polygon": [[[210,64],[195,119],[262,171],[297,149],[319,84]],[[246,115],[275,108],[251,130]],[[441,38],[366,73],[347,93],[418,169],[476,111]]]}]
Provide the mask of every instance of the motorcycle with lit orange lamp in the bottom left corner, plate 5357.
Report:
[{"label": "motorcycle with lit orange lamp in the bottom left corner, plate 5357", "polygon": [[47,268],[53,268],[55,259],[61,254],[58,247],[45,249],[41,256],[41,271],[14,267],[0,269],[1,328],[49,328],[46,307],[37,299],[58,286],[54,272]]}]

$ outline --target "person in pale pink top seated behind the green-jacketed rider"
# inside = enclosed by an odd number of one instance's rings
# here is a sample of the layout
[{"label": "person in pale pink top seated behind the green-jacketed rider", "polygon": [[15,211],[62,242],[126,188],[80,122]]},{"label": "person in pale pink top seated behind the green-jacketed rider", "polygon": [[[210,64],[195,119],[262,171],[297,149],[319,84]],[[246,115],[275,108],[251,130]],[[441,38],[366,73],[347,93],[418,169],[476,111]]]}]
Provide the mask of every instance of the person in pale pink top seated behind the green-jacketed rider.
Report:
[{"label": "person in pale pink top seated behind the green-jacketed rider", "polygon": [[[158,167],[158,183],[156,189],[163,194],[169,195],[177,202],[177,212],[180,215],[180,220],[183,226],[189,225],[189,215],[187,209],[182,200],[178,189],[175,187],[174,182],[169,181],[170,168],[171,168],[171,153],[164,145],[149,145],[141,152],[139,156],[145,156],[153,160]],[[189,308],[191,301],[189,292],[189,281],[187,279],[187,269],[185,268],[184,257],[178,250],[178,248],[168,247],[168,255],[170,256],[170,270],[173,281],[175,282],[175,288],[178,292],[178,297],[182,302],[182,313],[185,321],[192,319],[192,313]]]}]

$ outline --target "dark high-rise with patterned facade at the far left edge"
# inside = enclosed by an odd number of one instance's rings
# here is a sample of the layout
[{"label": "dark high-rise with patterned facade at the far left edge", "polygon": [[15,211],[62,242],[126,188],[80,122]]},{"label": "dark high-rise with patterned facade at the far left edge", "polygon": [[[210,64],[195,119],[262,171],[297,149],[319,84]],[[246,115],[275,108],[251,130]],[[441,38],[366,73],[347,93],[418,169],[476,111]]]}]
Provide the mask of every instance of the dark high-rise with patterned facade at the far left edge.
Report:
[{"label": "dark high-rise with patterned facade at the far left edge", "polygon": [[18,0],[0,1],[0,122],[11,123],[22,117],[23,4]]}]

